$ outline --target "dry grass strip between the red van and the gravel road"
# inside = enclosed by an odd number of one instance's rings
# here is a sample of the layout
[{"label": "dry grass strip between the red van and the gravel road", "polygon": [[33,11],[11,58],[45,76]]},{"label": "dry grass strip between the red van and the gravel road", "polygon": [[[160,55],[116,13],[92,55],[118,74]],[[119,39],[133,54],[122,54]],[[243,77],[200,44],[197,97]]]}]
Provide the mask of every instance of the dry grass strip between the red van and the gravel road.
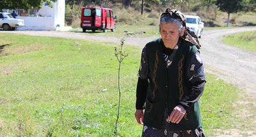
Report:
[{"label": "dry grass strip between the red van and the gravel road", "polygon": [[[132,35],[125,33],[124,31],[128,31],[132,33]],[[82,32],[82,29],[78,30],[70,30],[70,32]],[[143,33],[145,32],[145,33]],[[158,25],[126,25],[126,24],[117,24],[116,31],[111,32],[111,30],[107,30],[106,33],[103,31],[92,32],[91,30],[87,30],[84,35],[91,36],[126,36],[126,37],[148,37],[159,34]]]}]

